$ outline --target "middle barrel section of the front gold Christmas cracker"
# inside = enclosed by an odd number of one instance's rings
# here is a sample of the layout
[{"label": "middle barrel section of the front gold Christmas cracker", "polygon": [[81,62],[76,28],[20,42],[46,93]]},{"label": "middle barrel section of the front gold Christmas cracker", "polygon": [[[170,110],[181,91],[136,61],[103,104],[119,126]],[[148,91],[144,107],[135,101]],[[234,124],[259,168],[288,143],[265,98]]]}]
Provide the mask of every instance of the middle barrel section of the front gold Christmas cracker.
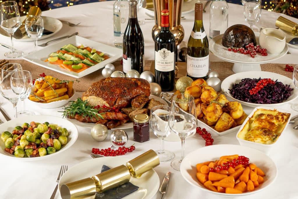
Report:
[{"label": "middle barrel section of the front gold Christmas cracker", "polygon": [[130,172],[126,166],[121,165],[92,177],[98,193],[105,192],[114,187],[129,182]]}]

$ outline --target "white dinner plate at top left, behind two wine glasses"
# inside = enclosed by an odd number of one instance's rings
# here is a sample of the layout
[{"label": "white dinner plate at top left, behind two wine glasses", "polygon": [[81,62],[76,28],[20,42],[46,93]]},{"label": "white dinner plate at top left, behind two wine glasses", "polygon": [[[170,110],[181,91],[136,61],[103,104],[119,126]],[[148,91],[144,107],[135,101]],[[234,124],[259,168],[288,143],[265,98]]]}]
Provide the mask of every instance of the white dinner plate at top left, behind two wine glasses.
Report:
[{"label": "white dinner plate at top left, behind two wine glasses", "polygon": [[[44,29],[49,30],[53,33],[48,34],[48,35],[42,35],[41,38],[38,39],[38,41],[42,40],[42,39],[49,38],[49,37],[57,34],[63,26],[62,22],[59,21],[58,19],[55,19],[52,17],[46,17],[46,16],[41,16],[41,18],[44,21]],[[26,19],[26,16],[21,17],[21,21],[24,21],[25,19]],[[0,34],[6,36],[6,34],[4,34],[4,33],[5,32],[0,31]],[[17,41],[33,41],[33,40],[31,38],[29,38],[28,35],[26,34],[23,38],[17,39]]]}]

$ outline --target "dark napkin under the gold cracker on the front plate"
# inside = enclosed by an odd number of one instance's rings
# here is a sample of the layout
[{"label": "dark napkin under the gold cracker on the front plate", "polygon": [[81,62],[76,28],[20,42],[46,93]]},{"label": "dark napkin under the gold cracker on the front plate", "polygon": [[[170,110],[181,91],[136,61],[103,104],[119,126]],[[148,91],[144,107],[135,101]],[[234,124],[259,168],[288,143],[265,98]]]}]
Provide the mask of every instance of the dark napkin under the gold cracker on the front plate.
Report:
[{"label": "dark napkin under the gold cracker on the front plate", "polygon": [[[101,168],[101,173],[105,172],[109,169],[111,169],[111,168],[103,165],[103,167]],[[113,189],[110,189],[110,190],[105,191],[100,194],[96,192],[95,199],[119,199],[119,198],[123,198],[124,196],[126,196],[138,189],[139,189],[138,186],[135,186],[132,183],[127,182],[127,183],[124,183],[118,187],[115,187]]]}]

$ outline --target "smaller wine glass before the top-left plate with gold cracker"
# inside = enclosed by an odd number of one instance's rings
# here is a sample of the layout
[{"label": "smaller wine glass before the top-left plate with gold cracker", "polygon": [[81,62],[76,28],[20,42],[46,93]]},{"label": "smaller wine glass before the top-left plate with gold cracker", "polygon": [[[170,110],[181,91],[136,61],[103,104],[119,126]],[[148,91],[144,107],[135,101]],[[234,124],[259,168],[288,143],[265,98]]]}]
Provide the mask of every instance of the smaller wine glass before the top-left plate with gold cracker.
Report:
[{"label": "smaller wine glass before the top-left plate with gold cracker", "polygon": [[34,40],[34,51],[30,52],[33,53],[37,49],[38,38],[41,38],[42,33],[44,32],[44,21],[40,16],[30,15],[26,18],[25,29],[28,37]]}]

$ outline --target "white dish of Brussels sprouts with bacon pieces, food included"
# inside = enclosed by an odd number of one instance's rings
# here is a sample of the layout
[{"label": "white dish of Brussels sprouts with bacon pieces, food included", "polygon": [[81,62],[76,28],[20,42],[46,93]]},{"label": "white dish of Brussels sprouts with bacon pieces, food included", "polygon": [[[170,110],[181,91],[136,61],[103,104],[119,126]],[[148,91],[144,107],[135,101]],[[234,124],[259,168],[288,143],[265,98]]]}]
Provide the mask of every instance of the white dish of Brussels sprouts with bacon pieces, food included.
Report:
[{"label": "white dish of Brussels sprouts with bacon pieces, food included", "polygon": [[49,115],[17,118],[0,125],[0,155],[24,161],[53,157],[72,146],[77,127],[66,119]]}]

